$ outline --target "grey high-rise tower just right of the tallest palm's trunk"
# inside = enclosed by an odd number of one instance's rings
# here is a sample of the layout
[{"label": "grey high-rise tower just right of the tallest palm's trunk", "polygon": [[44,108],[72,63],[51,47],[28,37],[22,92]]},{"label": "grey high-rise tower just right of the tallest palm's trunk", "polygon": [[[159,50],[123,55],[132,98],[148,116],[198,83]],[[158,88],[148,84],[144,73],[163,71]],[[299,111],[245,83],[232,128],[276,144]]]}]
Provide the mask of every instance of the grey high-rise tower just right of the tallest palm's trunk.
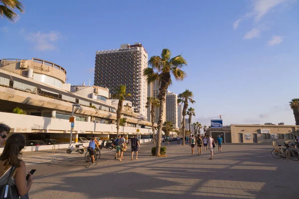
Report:
[{"label": "grey high-rise tower just right of the tallest palm's trunk", "polygon": [[178,128],[177,95],[169,91],[166,93],[166,121],[171,121],[173,126]]}]

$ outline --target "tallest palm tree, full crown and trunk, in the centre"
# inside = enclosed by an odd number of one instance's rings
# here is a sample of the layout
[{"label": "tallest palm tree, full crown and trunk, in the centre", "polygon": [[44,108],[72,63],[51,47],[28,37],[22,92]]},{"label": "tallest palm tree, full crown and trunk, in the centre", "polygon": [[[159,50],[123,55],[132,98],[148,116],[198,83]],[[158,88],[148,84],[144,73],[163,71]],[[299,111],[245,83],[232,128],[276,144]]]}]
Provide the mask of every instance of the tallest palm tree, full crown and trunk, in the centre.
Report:
[{"label": "tallest palm tree, full crown and trunk, in the centre", "polygon": [[160,56],[152,56],[149,59],[149,67],[143,72],[144,76],[148,78],[148,83],[152,83],[156,80],[159,81],[159,94],[158,100],[160,101],[159,107],[159,119],[157,123],[157,143],[156,143],[156,153],[155,156],[160,155],[161,147],[161,128],[164,114],[165,95],[168,86],[172,84],[171,74],[177,81],[182,81],[186,77],[186,73],[180,70],[184,65],[187,65],[186,60],[181,56],[171,57],[171,52],[169,49],[163,49]]}]

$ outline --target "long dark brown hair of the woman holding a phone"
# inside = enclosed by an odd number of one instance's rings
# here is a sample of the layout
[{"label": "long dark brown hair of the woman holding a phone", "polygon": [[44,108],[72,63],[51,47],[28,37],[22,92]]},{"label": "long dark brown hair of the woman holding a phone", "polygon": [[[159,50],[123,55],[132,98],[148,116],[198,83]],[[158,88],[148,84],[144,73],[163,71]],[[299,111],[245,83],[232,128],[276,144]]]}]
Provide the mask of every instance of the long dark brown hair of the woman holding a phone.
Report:
[{"label": "long dark brown hair of the woman holding a phone", "polygon": [[20,152],[25,147],[25,141],[25,137],[20,133],[14,133],[7,138],[0,156],[0,160],[5,161],[3,166],[6,169],[8,165],[20,166]]}]

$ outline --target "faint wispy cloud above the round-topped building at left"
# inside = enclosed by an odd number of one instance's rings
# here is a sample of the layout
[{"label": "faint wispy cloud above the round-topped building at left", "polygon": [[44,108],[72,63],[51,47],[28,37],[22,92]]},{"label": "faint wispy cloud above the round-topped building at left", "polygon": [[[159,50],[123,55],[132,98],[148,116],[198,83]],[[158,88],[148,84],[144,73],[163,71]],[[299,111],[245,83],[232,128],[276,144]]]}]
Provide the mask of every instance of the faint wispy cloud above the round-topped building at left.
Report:
[{"label": "faint wispy cloud above the round-topped building at left", "polygon": [[26,40],[32,42],[34,45],[34,49],[38,51],[56,49],[56,42],[60,38],[61,34],[58,31],[50,31],[49,33],[38,31],[36,33],[30,33],[26,36]]}]

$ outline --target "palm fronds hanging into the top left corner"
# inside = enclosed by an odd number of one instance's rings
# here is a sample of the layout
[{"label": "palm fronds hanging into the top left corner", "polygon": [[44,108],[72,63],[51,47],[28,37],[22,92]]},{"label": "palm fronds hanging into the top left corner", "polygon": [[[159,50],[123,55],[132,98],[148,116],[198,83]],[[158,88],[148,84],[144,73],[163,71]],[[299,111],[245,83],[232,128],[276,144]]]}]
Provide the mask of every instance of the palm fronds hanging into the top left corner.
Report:
[{"label": "palm fronds hanging into the top left corner", "polygon": [[23,4],[18,0],[0,0],[0,17],[8,19],[10,22],[16,22],[19,15],[13,10],[24,11]]}]

